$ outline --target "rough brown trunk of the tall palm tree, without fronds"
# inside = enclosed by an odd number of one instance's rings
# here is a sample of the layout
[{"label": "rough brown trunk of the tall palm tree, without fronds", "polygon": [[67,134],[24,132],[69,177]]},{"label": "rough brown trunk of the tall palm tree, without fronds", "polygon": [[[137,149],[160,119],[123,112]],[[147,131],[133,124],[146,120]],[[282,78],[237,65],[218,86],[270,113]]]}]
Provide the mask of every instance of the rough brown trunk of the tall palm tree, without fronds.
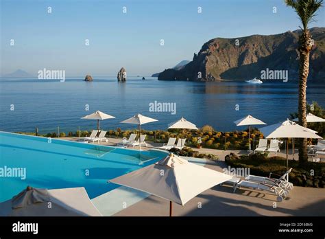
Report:
[{"label": "rough brown trunk of the tall palm tree, without fronds", "polygon": [[[309,52],[313,43],[311,34],[308,30],[304,30],[300,36],[300,65],[299,65],[299,98],[298,98],[298,118],[299,124],[306,127],[306,84],[309,74]],[[300,139],[299,141],[299,163],[304,164],[308,161],[307,155],[307,139]]]}]

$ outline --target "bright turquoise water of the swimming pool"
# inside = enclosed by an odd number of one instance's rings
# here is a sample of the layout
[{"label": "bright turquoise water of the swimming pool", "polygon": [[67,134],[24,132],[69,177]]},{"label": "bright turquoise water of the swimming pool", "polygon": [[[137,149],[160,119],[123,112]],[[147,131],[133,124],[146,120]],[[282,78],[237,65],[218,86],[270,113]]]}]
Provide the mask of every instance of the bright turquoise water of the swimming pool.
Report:
[{"label": "bright turquoise water of the swimming pool", "polygon": [[[167,153],[139,151],[0,132],[1,168],[25,168],[26,179],[0,177],[0,202],[27,185],[56,189],[85,187],[90,198],[119,187],[108,179],[137,170]],[[88,174],[87,174],[88,172]],[[87,174],[87,175],[86,175]]]}]

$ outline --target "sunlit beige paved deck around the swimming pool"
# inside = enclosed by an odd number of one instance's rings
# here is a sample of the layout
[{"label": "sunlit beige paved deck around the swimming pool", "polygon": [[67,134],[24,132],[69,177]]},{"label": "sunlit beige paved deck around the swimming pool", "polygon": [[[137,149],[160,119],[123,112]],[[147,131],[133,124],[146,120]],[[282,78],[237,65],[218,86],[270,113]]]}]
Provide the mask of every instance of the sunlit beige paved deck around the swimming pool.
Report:
[{"label": "sunlit beige paved deck around the swimming pool", "polygon": [[[63,138],[62,138],[63,139]],[[66,138],[68,139],[68,138]],[[68,140],[76,140],[69,138]],[[113,146],[121,139],[108,139],[108,143],[101,143]],[[149,143],[147,150],[152,147],[158,147],[161,144]],[[137,147],[134,147],[136,149]],[[239,155],[247,152],[239,150],[213,150],[196,149],[200,152],[212,153],[219,157],[219,161],[207,161],[204,165],[207,168],[222,172],[222,168],[227,165],[224,157],[230,152]],[[284,152],[277,155],[285,156]],[[291,155],[292,157],[292,155]],[[298,155],[295,156],[298,159]],[[123,190],[123,188],[122,188]],[[124,189],[125,190],[125,189]],[[229,185],[217,185],[202,194],[196,196],[186,205],[176,205],[173,203],[174,216],[324,216],[325,215],[325,189],[313,187],[294,187],[290,194],[281,203],[276,202],[276,196],[265,194],[257,190],[237,190],[232,192]],[[115,196],[123,197],[124,192],[119,192]],[[132,192],[134,193],[134,192]],[[95,199],[95,198],[94,198]],[[94,201],[93,199],[93,201]],[[95,201],[95,205],[96,205]],[[99,204],[110,204],[109,201],[101,201]],[[202,206],[201,206],[202,205]],[[111,205],[115,207],[114,205]],[[99,206],[101,207],[101,206]],[[107,206],[106,206],[107,207]],[[119,204],[121,207],[121,203]],[[99,209],[99,211],[102,211]],[[141,195],[140,200],[134,200],[126,203],[123,208],[116,213],[114,210],[108,210],[104,214],[112,216],[168,216],[169,201],[157,196]]]}]

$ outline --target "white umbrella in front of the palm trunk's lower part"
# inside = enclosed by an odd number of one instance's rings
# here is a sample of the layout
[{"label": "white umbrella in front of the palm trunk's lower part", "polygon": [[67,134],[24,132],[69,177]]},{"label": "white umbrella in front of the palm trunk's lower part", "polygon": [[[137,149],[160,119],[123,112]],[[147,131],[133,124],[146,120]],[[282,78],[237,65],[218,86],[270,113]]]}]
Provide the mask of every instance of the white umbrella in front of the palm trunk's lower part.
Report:
[{"label": "white umbrella in front of the palm trunk's lower part", "polygon": [[[259,128],[263,133],[265,139],[275,138],[311,138],[322,139],[319,135],[313,133],[310,128],[304,128],[291,120],[280,122],[278,124],[272,124],[263,128]],[[287,140],[287,168],[288,168],[288,140]]]}]

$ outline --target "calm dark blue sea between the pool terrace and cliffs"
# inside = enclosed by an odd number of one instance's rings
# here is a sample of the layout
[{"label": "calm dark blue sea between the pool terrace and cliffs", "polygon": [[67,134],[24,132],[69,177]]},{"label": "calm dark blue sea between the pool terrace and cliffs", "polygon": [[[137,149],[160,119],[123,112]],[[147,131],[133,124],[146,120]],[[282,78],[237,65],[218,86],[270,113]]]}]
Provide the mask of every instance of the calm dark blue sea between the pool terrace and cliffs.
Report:
[{"label": "calm dark blue sea between the pool terrace and cliffs", "polygon": [[[176,115],[170,112],[149,112],[149,103],[176,103]],[[308,102],[325,107],[325,84],[309,83]],[[89,111],[86,111],[86,105]],[[14,111],[10,107],[14,105]],[[239,110],[236,110],[236,105]],[[209,124],[216,130],[235,130],[234,120],[251,114],[267,124],[274,124],[297,111],[296,82],[176,82],[156,78],[130,78],[125,83],[116,78],[82,78],[58,80],[0,79],[0,130],[41,133],[95,128],[96,122],[80,118],[96,110],[114,115],[101,127],[134,128],[120,124],[136,113],[154,117],[158,122],[145,124],[145,129],[166,129],[168,124],[185,117],[196,124]],[[241,128],[237,128],[241,129]]]}]

